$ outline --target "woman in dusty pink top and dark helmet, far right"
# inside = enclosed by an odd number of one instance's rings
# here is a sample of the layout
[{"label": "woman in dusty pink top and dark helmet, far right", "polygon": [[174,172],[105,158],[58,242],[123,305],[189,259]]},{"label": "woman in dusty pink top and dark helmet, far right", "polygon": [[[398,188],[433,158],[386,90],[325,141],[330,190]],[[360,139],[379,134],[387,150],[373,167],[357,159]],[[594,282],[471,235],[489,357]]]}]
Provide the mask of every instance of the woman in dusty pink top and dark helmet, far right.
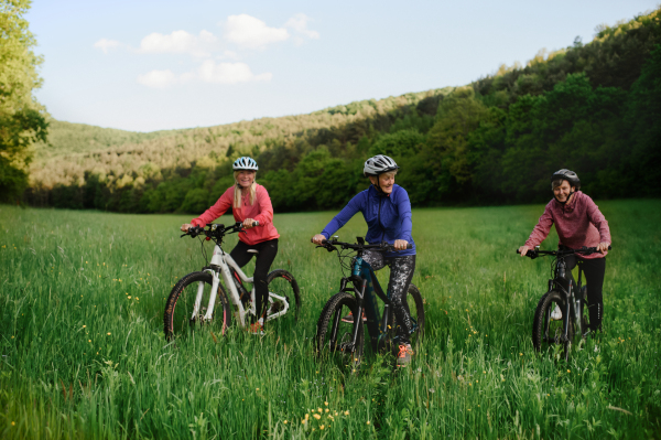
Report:
[{"label": "woman in dusty pink top and dark helmet, far right", "polygon": [[[519,251],[521,256],[524,256],[528,250],[539,246],[549,235],[553,224],[555,224],[555,230],[560,237],[559,246],[561,248],[596,247],[599,253],[585,256],[571,255],[565,258],[565,262],[568,269],[567,278],[574,282],[571,270],[576,266],[578,259],[583,261],[583,271],[587,283],[589,329],[593,332],[602,330],[602,319],[604,318],[602,288],[606,272],[605,257],[610,245],[608,222],[595,202],[578,191],[581,181],[575,172],[565,169],[556,171],[551,176],[551,182],[554,197],[546,205],[544,214]],[[552,316],[561,319],[560,309],[554,310]]]}]

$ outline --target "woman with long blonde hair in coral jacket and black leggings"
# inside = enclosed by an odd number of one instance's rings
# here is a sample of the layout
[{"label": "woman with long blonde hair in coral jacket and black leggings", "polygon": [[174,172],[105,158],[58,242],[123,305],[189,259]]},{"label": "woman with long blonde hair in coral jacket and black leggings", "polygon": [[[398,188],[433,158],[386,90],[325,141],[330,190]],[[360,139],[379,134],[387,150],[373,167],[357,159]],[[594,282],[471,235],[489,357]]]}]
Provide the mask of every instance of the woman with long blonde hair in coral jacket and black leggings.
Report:
[{"label": "woman with long blonde hair in coral jacket and black leggings", "polygon": [[[229,255],[239,267],[243,267],[254,255],[248,250],[259,250],[254,262],[254,305],[261,318],[251,325],[250,331],[260,334],[264,328],[263,316],[269,303],[267,276],[278,254],[280,235],[273,226],[273,206],[269,193],[266,187],[254,182],[257,162],[252,158],[239,158],[232,164],[232,169],[236,184],[228,187],[218,202],[204,214],[182,225],[182,230],[186,232],[193,226],[204,227],[230,207],[235,219],[243,223],[246,233],[239,234],[239,243]],[[252,226],[253,222],[258,222],[259,225]]]}]

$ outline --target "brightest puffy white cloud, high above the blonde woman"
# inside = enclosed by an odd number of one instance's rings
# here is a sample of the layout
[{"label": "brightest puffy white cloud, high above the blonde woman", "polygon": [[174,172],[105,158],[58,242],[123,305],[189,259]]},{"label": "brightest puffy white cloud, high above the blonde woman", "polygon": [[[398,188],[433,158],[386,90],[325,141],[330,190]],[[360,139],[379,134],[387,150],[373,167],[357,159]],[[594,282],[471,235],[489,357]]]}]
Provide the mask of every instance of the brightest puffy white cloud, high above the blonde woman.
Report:
[{"label": "brightest puffy white cloud, high above the blonde woman", "polygon": [[269,28],[263,21],[245,13],[229,15],[225,23],[225,39],[242,47],[264,49],[289,37],[286,29]]}]

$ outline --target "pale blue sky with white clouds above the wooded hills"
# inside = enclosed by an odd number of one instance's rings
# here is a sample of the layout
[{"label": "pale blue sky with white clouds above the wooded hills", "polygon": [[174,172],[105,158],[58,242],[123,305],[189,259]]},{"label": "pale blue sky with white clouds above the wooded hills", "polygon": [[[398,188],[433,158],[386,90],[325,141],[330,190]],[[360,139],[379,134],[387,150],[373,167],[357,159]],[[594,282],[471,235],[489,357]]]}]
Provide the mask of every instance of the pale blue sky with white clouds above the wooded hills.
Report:
[{"label": "pale blue sky with white clouds above the wooded hills", "polygon": [[34,0],[37,99],[133,131],[306,114],[465,85],[658,0]]}]

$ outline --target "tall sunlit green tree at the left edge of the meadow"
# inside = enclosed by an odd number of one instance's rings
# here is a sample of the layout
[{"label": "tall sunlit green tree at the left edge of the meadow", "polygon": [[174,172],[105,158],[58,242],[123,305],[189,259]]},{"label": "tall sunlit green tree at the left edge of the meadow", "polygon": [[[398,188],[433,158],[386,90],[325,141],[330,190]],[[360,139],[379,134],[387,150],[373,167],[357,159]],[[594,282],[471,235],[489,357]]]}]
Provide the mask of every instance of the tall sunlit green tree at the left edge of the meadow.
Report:
[{"label": "tall sunlit green tree at the left edge of the meadow", "polygon": [[20,197],[28,186],[30,146],[46,140],[46,112],[32,92],[41,86],[32,52],[36,41],[23,14],[30,0],[0,0],[0,201]]}]

